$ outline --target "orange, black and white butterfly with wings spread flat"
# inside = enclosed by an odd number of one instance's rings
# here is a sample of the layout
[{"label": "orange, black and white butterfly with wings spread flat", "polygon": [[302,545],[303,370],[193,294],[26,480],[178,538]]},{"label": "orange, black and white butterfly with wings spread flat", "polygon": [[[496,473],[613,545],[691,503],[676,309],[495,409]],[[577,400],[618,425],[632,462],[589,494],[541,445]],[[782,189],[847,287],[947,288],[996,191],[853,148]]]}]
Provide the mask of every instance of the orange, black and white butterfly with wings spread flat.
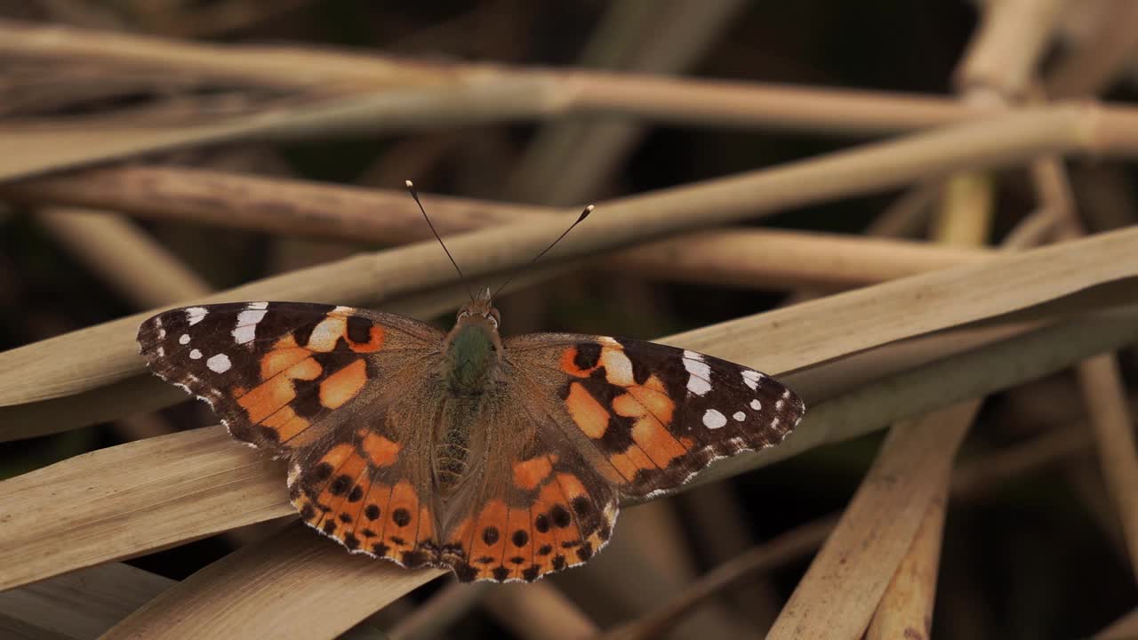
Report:
[{"label": "orange, black and white butterfly with wings spread flat", "polygon": [[503,339],[492,298],[471,296],[448,333],[351,306],[189,306],[145,321],[138,342],[232,437],[288,459],[306,524],[354,553],[463,582],[583,564],[621,500],[778,444],[805,412],[769,376],[683,348]]}]

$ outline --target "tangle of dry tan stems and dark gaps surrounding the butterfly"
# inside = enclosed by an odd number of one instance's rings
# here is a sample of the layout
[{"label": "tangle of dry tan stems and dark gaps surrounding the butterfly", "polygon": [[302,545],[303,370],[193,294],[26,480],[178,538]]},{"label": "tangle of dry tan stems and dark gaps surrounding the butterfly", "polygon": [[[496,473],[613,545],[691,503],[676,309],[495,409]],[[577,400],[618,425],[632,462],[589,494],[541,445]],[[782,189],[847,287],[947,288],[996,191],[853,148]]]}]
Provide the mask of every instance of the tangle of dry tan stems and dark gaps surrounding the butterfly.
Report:
[{"label": "tangle of dry tan stems and dark gaps surrounding the butterfly", "polygon": [[[402,5],[0,0],[0,635],[1138,637],[1133,3]],[[445,321],[409,178],[488,282],[596,202],[508,333],[671,334],[806,420],[531,585],[314,535],[135,329]]]}]

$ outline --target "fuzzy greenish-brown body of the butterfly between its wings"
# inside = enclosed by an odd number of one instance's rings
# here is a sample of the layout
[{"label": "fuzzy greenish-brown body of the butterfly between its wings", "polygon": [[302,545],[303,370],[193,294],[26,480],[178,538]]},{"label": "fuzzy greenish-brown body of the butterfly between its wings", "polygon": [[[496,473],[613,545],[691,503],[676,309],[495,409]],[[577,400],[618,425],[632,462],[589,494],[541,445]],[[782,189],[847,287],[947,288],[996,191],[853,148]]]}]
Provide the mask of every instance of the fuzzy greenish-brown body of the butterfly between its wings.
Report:
[{"label": "fuzzy greenish-brown body of the butterfly between its wings", "polygon": [[[473,309],[470,309],[473,306]],[[485,434],[477,433],[479,416],[498,384],[502,340],[497,312],[469,305],[443,345],[445,397],[435,434],[435,478],[445,495],[467,477],[471,461],[485,451]]]}]

